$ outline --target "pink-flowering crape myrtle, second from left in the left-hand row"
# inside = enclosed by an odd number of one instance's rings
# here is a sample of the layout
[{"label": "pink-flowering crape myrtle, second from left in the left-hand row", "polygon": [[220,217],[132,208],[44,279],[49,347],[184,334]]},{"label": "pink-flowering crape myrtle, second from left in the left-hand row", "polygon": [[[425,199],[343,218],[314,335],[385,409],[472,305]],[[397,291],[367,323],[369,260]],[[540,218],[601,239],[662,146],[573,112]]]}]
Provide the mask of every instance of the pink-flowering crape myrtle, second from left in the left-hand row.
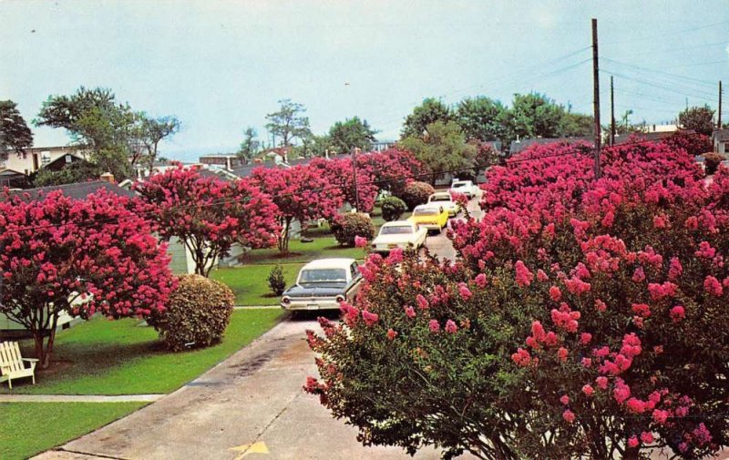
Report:
[{"label": "pink-flowering crape myrtle, second from left in the left-hand row", "polygon": [[201,177],[198,169],[178,165],[138,182],[135,189],[140,209],[157,223],[159,235],[180,239],[202,276],[233,244],[268,248],[276,243],[276,206],[246,180]]}]

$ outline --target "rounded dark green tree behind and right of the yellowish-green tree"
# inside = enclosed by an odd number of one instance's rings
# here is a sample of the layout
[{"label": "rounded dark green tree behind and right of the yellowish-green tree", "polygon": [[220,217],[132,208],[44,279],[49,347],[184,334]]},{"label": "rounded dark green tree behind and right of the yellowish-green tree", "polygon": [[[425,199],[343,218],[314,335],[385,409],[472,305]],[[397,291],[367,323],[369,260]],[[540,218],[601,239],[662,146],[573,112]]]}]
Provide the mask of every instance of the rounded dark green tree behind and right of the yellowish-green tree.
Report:
[{"label": "rounded dark green tree behind and right of the yellowish-green tree", "polygon": [[498,140],[507,136],[508,110],[498,100],[467,97],[458,103],[456,120],[468,140]]}]

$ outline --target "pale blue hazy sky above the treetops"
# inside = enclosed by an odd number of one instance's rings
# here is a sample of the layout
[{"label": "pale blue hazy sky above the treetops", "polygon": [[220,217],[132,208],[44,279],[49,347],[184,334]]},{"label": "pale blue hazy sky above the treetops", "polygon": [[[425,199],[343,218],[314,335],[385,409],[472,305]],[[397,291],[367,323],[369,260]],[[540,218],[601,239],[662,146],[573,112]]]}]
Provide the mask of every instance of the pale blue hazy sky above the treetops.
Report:
[{"label": "pale blue hazy sky above the treetops", "polygon": [[[0,100],[30,121],[50,95],[111,88],[182,128],[166,158],[233,152],[290,98],[314,134],[358,116],[398,138],[425,97],[508,104],[538,91],[592,110],[590,18],[598,19],[601,119],[662,123],[716,108],[729,85],[729,5],[717,1],[0,0]],[[726,93],[725,93],[726,94]],[[724,109],[724,119],[729,110]],[[36,146],[66,145],[33,128]]]}]

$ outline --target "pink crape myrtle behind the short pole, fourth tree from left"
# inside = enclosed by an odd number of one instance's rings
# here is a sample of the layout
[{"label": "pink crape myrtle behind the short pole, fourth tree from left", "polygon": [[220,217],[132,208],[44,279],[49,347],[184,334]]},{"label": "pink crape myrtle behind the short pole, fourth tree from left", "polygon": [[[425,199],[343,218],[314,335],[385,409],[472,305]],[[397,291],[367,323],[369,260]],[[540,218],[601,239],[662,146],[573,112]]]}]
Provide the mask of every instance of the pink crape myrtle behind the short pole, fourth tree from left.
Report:
[{"label": "pink crape myrtle behind the short pole, fourth tree from left", "polygon": [[357,156],[357,189],[354,190],[354,167],[352,158],[313,158],[308,165],[310,168],[319,169],[327,179],[331,187],[340,189],[344,195],[344,201],[353,208],[357,206],[359,197],[359,212],[370,212],[375,208],[377,196],[377,185],[370,172]]}]

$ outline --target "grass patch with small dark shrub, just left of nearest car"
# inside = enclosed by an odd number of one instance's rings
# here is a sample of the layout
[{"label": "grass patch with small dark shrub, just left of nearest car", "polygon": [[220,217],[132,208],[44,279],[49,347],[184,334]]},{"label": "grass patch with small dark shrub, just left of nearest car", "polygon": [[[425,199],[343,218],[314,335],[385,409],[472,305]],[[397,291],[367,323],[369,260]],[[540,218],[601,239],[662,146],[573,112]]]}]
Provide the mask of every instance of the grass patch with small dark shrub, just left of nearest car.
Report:
[{"label": "grass patch with small dark shrub, just left of nearest car", "polygon": [[[275,265],[245,265],[210,272],[210,278],[221,281],[235,293],[236,305],[278,305],[279,297],[268,287],[268,275]],[[282,264],[286,287],[292,286],[303,263]]]}]

